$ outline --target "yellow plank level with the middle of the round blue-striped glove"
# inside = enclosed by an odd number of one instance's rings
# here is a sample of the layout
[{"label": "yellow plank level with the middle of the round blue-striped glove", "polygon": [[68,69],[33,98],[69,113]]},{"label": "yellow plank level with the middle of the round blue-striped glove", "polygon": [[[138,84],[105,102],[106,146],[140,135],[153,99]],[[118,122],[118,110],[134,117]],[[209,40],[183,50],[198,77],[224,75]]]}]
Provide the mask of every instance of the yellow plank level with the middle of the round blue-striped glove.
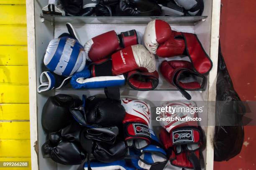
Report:
[{"label": "yellow plank level with the middle of the round blue-striped glove", "polygon": [[28,47],[0,45],[0,65],[28,65]]}]

